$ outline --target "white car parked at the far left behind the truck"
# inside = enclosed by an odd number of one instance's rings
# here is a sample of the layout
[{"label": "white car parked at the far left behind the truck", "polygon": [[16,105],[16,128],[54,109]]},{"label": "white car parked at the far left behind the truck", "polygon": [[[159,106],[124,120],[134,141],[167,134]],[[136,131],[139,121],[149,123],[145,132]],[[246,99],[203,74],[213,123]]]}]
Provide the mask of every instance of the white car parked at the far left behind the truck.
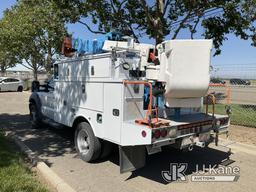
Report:
[{"label": "white car parked at the far left behind the truck", "polygon": [[22,92],[24,82],[17,78],[0,77],[0,91],[19,91]]}]

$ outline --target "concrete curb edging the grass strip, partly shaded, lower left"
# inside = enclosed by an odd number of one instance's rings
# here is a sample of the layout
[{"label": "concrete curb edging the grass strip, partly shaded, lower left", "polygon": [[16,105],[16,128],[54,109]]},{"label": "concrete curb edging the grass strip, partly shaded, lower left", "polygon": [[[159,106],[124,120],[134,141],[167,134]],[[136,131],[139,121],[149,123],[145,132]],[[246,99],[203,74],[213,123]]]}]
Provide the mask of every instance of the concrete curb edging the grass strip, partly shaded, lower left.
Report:
[{"label": "concrete curb edging the grass strip, partly shaded, lower left", "polygon": [[37,169],[39,174],[54,188],[57,192],[76,192],[71,186],[69,186],[64,180],[62,180],[52,169],[50,169],[43,161],[37,157],[31,149],[28,148],[22,141],[23,139],[17,135],[14,135],[11,131],[6,131],[6,136],[10,137],[20,150],[30,160],[33,167]]}]

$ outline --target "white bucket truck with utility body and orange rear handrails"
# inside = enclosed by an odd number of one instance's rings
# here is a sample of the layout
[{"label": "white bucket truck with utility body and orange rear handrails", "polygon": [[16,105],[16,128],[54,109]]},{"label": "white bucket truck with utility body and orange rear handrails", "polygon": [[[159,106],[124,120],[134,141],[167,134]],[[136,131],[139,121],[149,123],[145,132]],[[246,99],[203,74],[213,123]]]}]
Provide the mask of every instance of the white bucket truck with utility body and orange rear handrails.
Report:
[{"label": "white bucket truck with utility body and orange rear handrails", "polygon": [[32,126],[75,129],[75,146],[86,162],[118,145],[121,173],[143,167],[147,154],[166,145],[193,150],[217,144],[230,120],[203,111],[211,49],[211,40],[156,47],[106,40],[100,54],[61,59],[52,81],[44,89],[35,86],[29,99]]}]

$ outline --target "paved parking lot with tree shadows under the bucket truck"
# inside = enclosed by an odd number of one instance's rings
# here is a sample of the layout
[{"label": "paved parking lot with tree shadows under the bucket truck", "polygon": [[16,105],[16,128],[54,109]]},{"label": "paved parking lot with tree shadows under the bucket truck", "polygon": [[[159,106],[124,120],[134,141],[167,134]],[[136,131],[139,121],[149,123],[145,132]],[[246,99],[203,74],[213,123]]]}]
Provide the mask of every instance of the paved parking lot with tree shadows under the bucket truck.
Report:
[{"label": "paved parking lot with tree shadows under the bucket truck", "polygon": [[[0,128],[11,130],[20,136],[30,149],[36,152],[52,170],[77,191],[252,191],[256,190],[254,175],[256,155],[243,149],[228,153],[226,147],[195,149],[184,153],[165,149],[149,156],[146,167],[133,173],[119,173],[118,151],[107,159],[85,163],[74,150],[73,130],[44,126],[30,128],[28,116],[29,92],[0,93]],[[235,130],[235,129],[234,129]],[[253,130],[253,129],[251,129]],[[252,131],[254,134],[255,130]],[[232,134],[232,132],[231,132]],[[243,134],[246,134],[245,132]],[[235,135],[235,134],[234,134]],[[237,182],[192,182],[196,165],[225,165],[240,168]],[[166,182],[162,171],[170,170],[170,163],[187,163],[186,182]]]}]

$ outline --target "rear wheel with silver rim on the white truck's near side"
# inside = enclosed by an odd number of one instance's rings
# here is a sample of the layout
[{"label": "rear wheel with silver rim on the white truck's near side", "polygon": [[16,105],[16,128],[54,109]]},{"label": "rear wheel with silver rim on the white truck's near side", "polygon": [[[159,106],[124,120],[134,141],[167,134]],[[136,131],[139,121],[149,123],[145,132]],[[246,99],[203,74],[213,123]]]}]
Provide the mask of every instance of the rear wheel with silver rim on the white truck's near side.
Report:
[{"label": "rear wheel with silver rim on the white truck's near side", "polygon": [[100,156],[100,140],[94,135],[91,126],[86,122],[81,122],[77,125],[75,146],[78,155],[83,161],[92,162]]}]

